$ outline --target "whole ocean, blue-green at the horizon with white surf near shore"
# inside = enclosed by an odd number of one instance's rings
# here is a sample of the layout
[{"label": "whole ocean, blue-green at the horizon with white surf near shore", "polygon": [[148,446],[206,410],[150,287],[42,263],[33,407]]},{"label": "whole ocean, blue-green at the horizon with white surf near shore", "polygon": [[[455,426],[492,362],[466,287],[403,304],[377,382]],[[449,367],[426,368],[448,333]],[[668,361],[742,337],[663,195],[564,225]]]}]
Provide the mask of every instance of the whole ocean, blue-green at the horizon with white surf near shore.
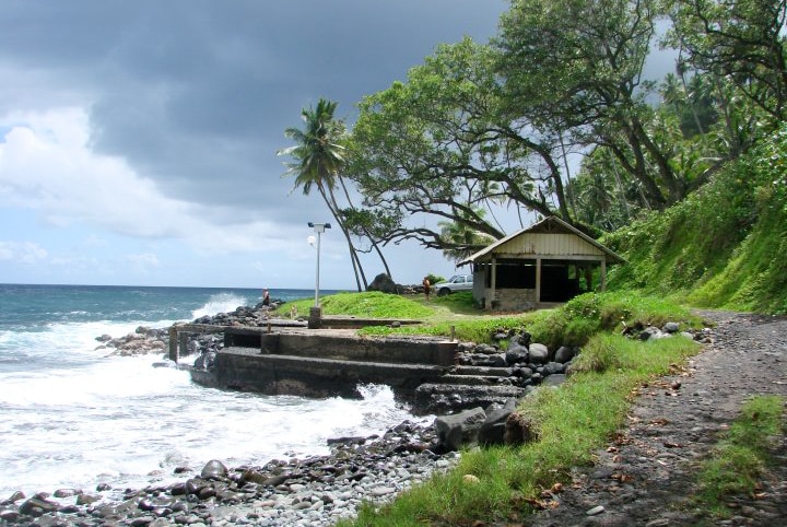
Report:
[{"label": "whole ocean, blue-green at the horizon with white surf near shore", "polygon": [[127,488],[181,481],[176,467],[327,454],[327,438],[427,419],[395,403],[386,386],[362,387],[361,400],[224,391],[153,367],[161,354],[108,356],[96,341],[259,301],[249,289],[0,284],[0,501],[15,491],[96,493],[99,483],[117,499]]}]

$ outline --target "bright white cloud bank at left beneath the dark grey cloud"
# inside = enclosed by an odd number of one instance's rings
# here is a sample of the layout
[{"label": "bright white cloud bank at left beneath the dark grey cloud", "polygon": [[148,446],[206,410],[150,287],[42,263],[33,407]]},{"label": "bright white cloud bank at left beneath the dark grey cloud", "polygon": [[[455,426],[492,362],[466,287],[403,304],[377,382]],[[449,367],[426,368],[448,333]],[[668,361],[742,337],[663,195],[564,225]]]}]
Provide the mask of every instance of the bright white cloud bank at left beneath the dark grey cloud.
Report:
[{"label": "bright white cloud bank at left beneath the dark grey cloud", "polygon": [[0,204],[36,211],[56,226],[84,223],[140,238],[183,238],[195,247],[254,250],[277,237],[268,222],[212,225],[204,206],[164,196],[125,160],[89,148],[86,113],[68,107],[0,117]]}]

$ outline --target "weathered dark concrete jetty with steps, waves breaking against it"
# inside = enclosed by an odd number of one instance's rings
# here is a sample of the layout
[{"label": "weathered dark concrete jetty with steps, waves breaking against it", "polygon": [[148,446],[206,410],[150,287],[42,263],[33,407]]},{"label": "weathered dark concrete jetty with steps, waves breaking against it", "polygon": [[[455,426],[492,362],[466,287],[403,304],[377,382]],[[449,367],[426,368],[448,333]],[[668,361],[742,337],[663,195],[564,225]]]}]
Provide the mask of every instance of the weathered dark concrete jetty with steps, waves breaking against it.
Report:
[{"label": "weathered dark concrete jetty with steps, waves breaking against it", "polygon": [[[342,329],[331,328],[330,320],[322,329],[283,323],[262,327],[174,326],[171,343],[177,347],[184,341],[180,335],[187,332],[223,332],[224,348],[210,367],[191,368],[196,383],[223,389],[353,398],[361,397],[360,385],[385,384],[399,400],[411,405],[414,413],[433,413],[447,399],[461,402],[461,407],[485,406],[520,391],[513,387],[501,390],[496,380],[504,374],[486,375],[485,382],[478,372],[466,374],[455,364],[458,342],[451,339],[359,336],[356,329],[349,329],[352,324],[346,319],[337,324]],[[176,359],[177,350],[171,348],[173,353]]]}]

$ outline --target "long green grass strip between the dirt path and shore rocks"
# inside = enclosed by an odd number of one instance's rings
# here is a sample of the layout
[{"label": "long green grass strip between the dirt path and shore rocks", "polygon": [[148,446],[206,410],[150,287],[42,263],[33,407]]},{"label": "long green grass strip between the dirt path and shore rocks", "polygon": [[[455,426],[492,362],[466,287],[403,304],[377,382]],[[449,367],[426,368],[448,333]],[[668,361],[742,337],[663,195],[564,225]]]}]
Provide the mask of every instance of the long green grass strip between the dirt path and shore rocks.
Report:
[{"label": "long green grass strip between the dirt path and shore rocks", "polygon": [[[680,337],[639,342],[595,336],[587,350],[607,355],[594,359],[597,366],[573,375],[560,388],[540,388],[521,402],[519,411],[533,423],[538,441],[518,448],[465,452],[450,473],[433,477],[391,504],[367,504],[355,520],[338,525],[471,526],[519,520],[533,511],[542,490],[568,483],[572,467],[592,462],[592,453],[624,424],[635,387],[666,374],[670,364],[697,348]],[[465,475],[479,482],[467,482]]]}]

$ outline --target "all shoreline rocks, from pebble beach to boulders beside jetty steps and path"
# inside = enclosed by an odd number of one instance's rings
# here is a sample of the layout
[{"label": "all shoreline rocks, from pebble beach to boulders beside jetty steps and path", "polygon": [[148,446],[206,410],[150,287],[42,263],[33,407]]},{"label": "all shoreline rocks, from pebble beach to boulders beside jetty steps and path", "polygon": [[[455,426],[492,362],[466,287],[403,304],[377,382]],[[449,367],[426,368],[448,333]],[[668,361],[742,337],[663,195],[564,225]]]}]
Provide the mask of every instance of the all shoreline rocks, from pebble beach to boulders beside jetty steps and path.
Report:
[{"label": "all shoreline rocks, from pebble beach to boulders beside jetty steps and path", "polygon": [[[198,324],[263,326],[268,306],[239,307],[196,320]],[[641,338],[661,338],[677,332],[647,328]],[[645,337],[647,335],[647,337]],[[578,350],[550,352],[530,343],[527,335],[500,335],[509,340],[508,350],[480,344],[462,346],[458,361],[471,367],[509,368],[502,383],[518,385],[529,393],[535,385],[557,385]],[[167,349],[168,332],[138,328],[134,333],[114,339],[97,338],[109,354],[161,353]],[[195,336],[188,343],[198,361],[207,363],[223,346],[216,335]],[[166,361],[161,363],[165,365]],[[550,380],[551,378],[551,380]],[[547,380],[545,380],[547,379]],[[456,401],[457,405],[461,401]],[[94,492],[61,489],[49,495],[25,496],[21,492],[0,496],[0,525],[36,527],[172,525],[332,525],[355,515],[363,502],[385,503],[436,471],[448,470],[458,460],[457,450],[468,444],[518,444],[526,441],[526,423],[516,419],[516,398],[486,408],[453,408],[446,401],[446,415],[432,425],[404,422],[381,436],[329,440],[331,453],[305,459],[286,458],[265,466],[227,468],[221,461],[208,462],[199,473],[192,468],[175,470],[183,478],[166,485],[111,490],[107,501],[97,487]],[[456,411],[460,410],[460,411]],[[455,413],[451,413],[456,411]]]}]

